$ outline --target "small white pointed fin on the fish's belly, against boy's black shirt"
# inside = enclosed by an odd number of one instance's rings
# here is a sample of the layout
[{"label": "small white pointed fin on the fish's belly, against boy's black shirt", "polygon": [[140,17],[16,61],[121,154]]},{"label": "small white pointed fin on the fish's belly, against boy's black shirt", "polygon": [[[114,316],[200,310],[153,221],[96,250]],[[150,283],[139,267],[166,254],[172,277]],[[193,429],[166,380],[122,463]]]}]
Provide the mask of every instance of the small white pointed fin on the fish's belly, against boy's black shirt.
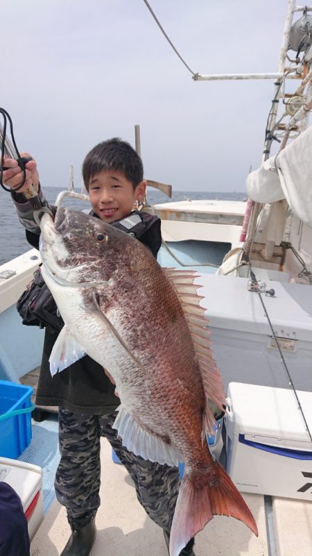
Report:
[{"label": "small white pointed fin on the fish's belly, against boy's black shirt", "polygon": [[84,348],[78,344],[65,324],[49,357],[51,375],[54,376],[56,373],[67,369],[69,365],[75,363],[84,355],[86,355]]}]

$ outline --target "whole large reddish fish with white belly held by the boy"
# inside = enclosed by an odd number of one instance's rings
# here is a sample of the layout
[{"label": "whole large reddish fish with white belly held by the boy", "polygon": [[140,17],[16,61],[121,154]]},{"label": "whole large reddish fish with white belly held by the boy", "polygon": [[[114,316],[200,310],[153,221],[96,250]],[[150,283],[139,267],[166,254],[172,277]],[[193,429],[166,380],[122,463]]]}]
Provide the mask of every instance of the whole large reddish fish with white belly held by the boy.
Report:
[{"label": "whole large reddish fish with white belly held by the boy", "polygon": [[114,378],[114,423],[132,452],[177,465],[184,478],[173,518],[177,556],[214,514],[257,525],[205,440],[211,405],[225,398],[194,273],[162,269],[137,239],[100,219],[58,208],[40,224],[42,275],[65,326],[51,353],[58,372],[87,353]]}]

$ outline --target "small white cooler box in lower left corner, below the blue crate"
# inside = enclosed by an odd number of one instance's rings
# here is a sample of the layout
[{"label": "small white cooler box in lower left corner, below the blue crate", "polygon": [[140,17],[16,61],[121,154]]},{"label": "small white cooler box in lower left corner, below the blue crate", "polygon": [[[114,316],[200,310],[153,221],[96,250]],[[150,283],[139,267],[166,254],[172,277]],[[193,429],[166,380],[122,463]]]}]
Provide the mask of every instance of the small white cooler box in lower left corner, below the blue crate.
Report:
[{"label": "small white cooler box in lower left corner, below the blue crate", "polygon": [[28,521],[28,533],[33,539],[37,528],[44,519],[42,498],[42,469],[37,465],[0,457],[0,480],[14,489],[23,505]]}]

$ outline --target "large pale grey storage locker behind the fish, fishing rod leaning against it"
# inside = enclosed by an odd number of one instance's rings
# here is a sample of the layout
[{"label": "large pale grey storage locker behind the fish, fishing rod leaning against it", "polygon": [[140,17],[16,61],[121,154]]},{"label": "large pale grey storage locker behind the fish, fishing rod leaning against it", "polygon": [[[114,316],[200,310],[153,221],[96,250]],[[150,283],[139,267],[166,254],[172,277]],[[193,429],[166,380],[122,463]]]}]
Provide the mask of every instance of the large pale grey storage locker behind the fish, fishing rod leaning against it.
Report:
[{"label": "large pale grey storage locker behind the fish, fishing rod leaning against it", "polygon": [[[311,286],[279,283],[255,269],[257,278],[274,289],[262,294],[279,346],[298,390],[312,391]],[[248,291],[248,278],[202,274],[200,304],[210,321],[211,349],[221,371],[225,391],[229,382],[288,388],[272,330],[256,292]]]}]

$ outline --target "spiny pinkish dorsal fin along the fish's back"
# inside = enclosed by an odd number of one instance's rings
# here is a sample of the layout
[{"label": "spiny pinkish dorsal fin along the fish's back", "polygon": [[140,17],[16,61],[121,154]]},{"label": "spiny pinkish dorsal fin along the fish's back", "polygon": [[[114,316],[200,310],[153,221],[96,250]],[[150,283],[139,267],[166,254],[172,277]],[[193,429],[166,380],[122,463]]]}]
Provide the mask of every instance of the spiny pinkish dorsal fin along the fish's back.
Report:
[{"label": "spiny pinkish dorsal fin along the fish's back", "polygon": [[216,425],[214,415],[223,411],[225,395],[220,371],[210,348],[210,330],[207,328],[209,319],[205,315],[205,308],[200,305],[203,296],[197,293],[200,285],[194,284],[194,279],[198,277],[198,273],[192,270],[165,268],[162,270],[180,300],[193,339],[194,351],[206,396],[202,427],[203,437],[205,437],[206,434],[214,430]]}]

